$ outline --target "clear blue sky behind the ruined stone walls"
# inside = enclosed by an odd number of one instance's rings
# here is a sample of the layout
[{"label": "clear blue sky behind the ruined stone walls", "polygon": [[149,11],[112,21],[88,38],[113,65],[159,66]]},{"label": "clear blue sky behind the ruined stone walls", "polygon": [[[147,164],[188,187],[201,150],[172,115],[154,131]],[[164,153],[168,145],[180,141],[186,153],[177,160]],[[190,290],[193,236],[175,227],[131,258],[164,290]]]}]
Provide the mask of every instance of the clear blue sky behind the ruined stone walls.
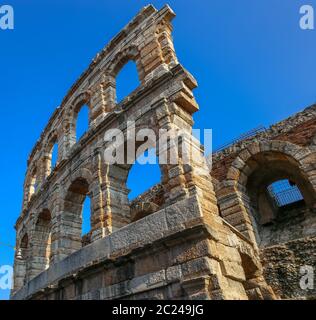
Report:
[{"label": "clear blue sky behind the ruined stone walls", "polygon": [[[148,2],[5,2],[15,30],[0,30],[0,241],[14,244],[31,148],[95,54]],[[299,28],[300,6],[316,10],[315,0],[168,3],[177,55],[199,82],[195,127],[212,128],[215,147],[315,102],[316,30]],[[0,265],[12,262],[13,250],[0,246]]]}]

